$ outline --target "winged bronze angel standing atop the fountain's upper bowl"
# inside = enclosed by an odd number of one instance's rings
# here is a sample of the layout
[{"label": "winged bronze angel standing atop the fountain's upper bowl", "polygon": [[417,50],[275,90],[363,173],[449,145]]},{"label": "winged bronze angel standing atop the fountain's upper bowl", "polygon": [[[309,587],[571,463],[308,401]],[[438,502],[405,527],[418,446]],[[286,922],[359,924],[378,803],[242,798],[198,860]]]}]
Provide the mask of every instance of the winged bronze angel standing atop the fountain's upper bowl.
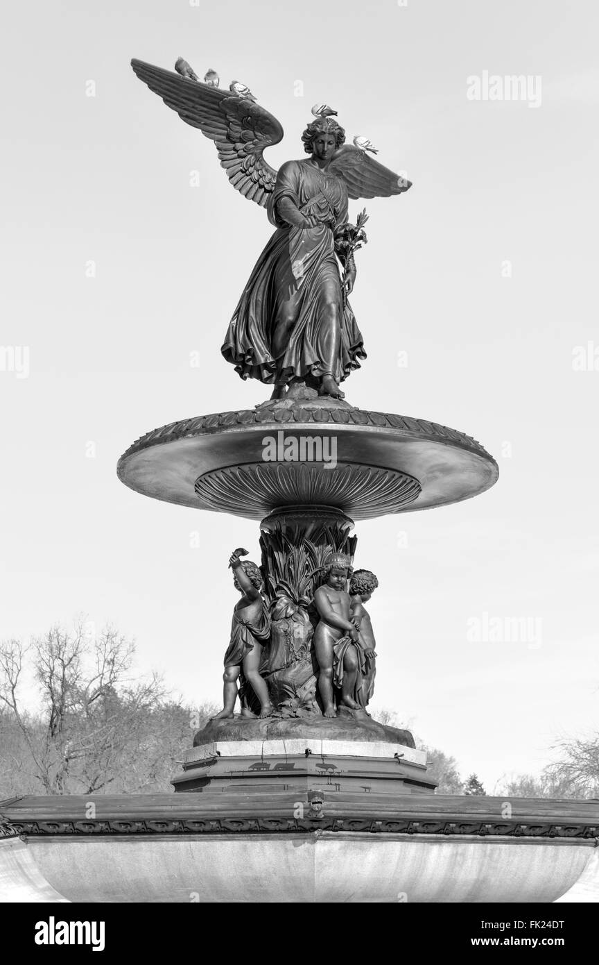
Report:
[{"label": "winged bronze angel standing atop the fountain's upper bowl", "polygon": [[242,378],[273,385],[273,399],[288,392],[301,398],[306,388],[308,395],[317,390],[343,399],[340,383],[366,358],[347,297],[355,281],[348,199],[387,198],[410,182],[346,145],[326,105],[301,135],[308,156],[275,171],[264,152],[281,141],[283,128],[244,84],[221,90],[197,80],[193,70],[194,76],[180,75],[131,64],[186,124],[215,142],[233,187],[266,207],[275,228],[235,309],[222,355]]}]

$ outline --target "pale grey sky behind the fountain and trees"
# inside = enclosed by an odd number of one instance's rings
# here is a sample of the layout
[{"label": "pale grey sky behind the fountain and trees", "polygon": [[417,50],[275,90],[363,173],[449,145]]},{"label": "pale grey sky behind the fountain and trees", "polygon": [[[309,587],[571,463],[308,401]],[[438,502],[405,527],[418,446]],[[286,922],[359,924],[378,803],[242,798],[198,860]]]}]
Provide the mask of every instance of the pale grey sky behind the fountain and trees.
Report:
[{"label": "pale grey sky behind the fountain and trees", "polygon": [[141,673],[220,700],[227,561],[259,559],[258,525],[116,474],[146,431],[269,395],[220,354],[266,212],[129,66],[183,56],[279,119],[274,167],[303,156],[318,101],[407,172],[407,194],[350,208],[370,214],[352,295],[368,359],[346,395],[465,431],[499,463],[476,499],[356,525],[355,565],[379,580],[374,706],[489,791],[596,730],[598,20],[591,0],[13,5],[0,638],[110,621]]}]

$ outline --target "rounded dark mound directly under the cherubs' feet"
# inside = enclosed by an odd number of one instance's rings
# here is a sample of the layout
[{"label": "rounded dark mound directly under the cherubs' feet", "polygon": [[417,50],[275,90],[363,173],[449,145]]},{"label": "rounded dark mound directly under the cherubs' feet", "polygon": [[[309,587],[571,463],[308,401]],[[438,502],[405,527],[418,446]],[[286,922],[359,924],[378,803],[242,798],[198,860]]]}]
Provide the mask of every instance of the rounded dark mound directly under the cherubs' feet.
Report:
[{"label": "rounded dark mound directly under the cherubs' feet", "polygon": [[[340,717],[242,717],[236,714],[228,720],[213,720],[194,737],[194,747],[223,741],[265,740],[334,740],[358,742],[382,742],[414,748],[414,738],[409,731],[379,724],[372,717],[363,715]],[[352,754],[351,750],[345,752]],[[355,754],[361,752],[355,751]],[[393,755],[391,755],[393,757]]]}]

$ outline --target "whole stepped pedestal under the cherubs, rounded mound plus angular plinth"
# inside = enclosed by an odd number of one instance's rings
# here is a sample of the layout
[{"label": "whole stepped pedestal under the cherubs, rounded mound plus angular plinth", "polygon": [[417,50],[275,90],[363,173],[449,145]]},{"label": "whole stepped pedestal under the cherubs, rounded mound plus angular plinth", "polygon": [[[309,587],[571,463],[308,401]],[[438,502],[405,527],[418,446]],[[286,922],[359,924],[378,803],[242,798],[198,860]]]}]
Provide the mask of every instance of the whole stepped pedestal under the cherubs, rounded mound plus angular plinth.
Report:
[{"label": "whole stepped pedestal under the cherubs, rounded mound plus angular plinth", "polygon": [[[241,795],[268,807],[281,794],[299,801],[330,795],[432,793],[427,755],[409,731],[385,727],[365,711],[342,708],[338,717],[235,717],[197,731],[184,753],[175,791],[227,801]],[[320,795],[320,797],[319,797]]]}]

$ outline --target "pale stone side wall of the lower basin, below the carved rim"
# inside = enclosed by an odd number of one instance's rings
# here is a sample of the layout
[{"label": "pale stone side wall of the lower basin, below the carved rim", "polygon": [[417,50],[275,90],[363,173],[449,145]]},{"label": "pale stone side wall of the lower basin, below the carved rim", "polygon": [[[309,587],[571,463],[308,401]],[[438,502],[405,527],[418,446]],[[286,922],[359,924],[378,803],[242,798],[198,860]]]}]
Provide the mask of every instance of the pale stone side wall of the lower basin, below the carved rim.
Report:
[{"label": "pale stone side wall of the lower basin, below the carved rim", "polygon": [[599,879],[594,841],[322,832],[2,843],[5,901],[542,903],[587,868],[587,891]]}]

